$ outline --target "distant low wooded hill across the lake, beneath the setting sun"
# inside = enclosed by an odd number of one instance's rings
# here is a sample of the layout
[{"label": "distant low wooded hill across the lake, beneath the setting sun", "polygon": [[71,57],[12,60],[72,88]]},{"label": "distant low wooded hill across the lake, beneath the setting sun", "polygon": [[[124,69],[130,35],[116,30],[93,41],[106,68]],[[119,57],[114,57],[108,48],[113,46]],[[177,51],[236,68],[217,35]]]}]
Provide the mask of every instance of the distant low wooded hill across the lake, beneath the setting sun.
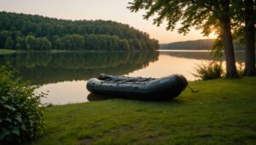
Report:
[{"label": "distant low wooded hill across the lake, beneath the setting sun", "polygon": [[[160,44],[160,49],[187,49],[187,50],[209,50],[212,48],[215,39],[201,39],[195,41],[186,42],[172,42],[166,44]],[[245,49],[245,46],[239,44],[239,42],[233,42],[236,49]]]}]

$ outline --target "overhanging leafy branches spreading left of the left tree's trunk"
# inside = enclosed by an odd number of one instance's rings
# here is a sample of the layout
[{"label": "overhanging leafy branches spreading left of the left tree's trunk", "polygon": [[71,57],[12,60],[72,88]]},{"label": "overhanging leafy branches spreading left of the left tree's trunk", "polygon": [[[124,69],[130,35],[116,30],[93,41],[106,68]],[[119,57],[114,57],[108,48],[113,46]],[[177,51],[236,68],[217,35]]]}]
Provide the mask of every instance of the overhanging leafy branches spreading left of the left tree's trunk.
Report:
[{"label": "overhanging leafy branches spreading left of the left tree's trunk", "polygon": [[166,30],[173,31],[177,23],[181,22],[178,32],[183,34],[187,34],[190,28],[195,26],[196,29],[202,29],[202,32],[208,36],[212,32],[212,28],[218,27],[218,18],[223,14],[218,1],[133,0],[129,4],[132,12],[137,12],[140,9],[146,10],[144,19],[148,20],[149,17],[156,16],[154,18],[155,25],[161,25],[166,20]]}]

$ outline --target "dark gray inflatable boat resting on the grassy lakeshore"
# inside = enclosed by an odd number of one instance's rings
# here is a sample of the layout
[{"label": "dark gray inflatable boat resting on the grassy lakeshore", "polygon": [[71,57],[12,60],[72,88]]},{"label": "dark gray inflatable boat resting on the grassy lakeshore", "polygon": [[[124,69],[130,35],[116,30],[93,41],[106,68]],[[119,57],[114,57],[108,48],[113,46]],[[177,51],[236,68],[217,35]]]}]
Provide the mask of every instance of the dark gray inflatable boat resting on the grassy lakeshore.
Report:
[{"label": "dark gray inflatable boat resting on the grassy lakeshore", "polygon": [[91,78],[86,88],[95,94],[111,97],[158,99],[175,98],[188,86],[183,75],[169,75],[159,79],[101,74]]}]

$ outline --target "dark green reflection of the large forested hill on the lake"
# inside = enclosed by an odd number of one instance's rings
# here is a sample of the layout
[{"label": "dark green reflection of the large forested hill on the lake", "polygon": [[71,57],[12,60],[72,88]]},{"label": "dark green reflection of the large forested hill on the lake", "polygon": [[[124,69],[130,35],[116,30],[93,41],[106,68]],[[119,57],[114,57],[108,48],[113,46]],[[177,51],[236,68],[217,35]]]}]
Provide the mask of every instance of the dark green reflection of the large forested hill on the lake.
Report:
[{"label": "dark green reflection of the large forested hill on the lake", "polygon": [[20,53],[0,56],[34,85],[61,81],[81,81],[101,73],[124,75],[143,69],[158,59],[159,53]]}]

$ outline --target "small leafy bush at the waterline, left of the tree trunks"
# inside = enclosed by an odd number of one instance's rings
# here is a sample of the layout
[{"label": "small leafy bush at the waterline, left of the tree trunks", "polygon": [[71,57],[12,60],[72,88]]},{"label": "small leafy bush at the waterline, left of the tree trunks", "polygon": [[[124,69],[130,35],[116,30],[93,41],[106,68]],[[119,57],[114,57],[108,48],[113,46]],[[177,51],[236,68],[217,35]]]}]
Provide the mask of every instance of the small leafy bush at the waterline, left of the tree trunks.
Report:
[{"label": "small leafy bush at the waterline, left of the tree trunks", "polygon": [[195,71],[196,73],[193,75],[201,80],[218,79],[224,74],[222,62],[214,60],[207,62],[207,64],[197,65]]}]

